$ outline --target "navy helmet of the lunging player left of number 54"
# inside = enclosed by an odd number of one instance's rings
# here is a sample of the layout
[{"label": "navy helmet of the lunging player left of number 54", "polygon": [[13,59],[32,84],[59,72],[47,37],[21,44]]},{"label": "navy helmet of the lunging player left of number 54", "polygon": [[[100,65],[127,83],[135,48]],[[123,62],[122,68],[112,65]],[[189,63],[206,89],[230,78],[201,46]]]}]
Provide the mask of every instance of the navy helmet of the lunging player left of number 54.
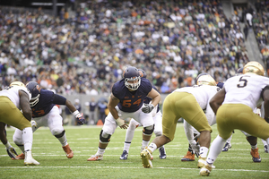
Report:
[{"label": "navy helmet of the lunging player left of number 54", "polygon": [[26,88],[30,90],[31,98],[30,98],[30,107],[34,107],[39,102],[40,96],[40,86],[36,81],[30,81],[26,84]]}]

